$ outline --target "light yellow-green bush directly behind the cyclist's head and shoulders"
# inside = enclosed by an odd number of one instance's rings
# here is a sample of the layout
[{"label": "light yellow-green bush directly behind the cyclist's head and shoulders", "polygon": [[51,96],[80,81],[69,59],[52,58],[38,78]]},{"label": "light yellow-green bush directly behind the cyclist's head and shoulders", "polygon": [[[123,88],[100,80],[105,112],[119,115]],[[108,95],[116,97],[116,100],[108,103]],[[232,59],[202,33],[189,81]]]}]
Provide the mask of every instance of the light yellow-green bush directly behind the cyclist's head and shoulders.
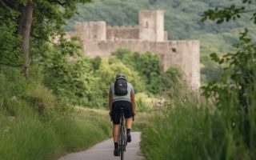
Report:
[{"label": "light yellow-green bush directly behind the cyclist's head and shoulders", "polygon": [[96,70],[94,73],[95,81],[92,83],[94,89],[92,90],[92,94],[90,94],[91,107],[108,106],[107,100],[110,85],[114,82],[115,76],[118,73],[126,74],[128,82],[131,82],[134,86],[135,93],[144,90],[143,87],[145,84],[138,76],[136,70],[132,70],[130,67],[124,65],[116,57],[103,58],[99,70]]}]

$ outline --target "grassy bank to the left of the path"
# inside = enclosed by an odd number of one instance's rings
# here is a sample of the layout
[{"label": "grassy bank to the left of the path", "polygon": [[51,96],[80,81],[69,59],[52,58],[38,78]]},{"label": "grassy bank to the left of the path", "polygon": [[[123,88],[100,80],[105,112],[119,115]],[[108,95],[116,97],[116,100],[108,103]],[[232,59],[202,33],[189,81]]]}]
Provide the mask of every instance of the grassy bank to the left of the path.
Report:
[{"label": "grassy bank to the left of the path", "polygon": [[0,69],[0,159],[56,159],[110,137],[106,110],[66,106],[41,82]]}]

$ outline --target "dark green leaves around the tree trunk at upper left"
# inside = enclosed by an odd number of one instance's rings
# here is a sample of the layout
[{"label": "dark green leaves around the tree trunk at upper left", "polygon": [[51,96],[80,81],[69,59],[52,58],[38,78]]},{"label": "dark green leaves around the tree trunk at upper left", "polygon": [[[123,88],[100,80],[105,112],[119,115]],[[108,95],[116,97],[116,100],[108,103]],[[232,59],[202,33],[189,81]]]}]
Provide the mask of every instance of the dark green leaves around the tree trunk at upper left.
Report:
[{"label": "dark green leaves around the tree trunk at upper left", "polygon": [[[63,34],[62,26],[67,18],[71,18],[77,10],[77,3],[91,2],[90,0],[65,0],[65,1],[31,1],[32,24],[26,23],[30,15],[26,14],[26,1],[2,0],[0,5],[0,64],[5,66],[22,66],[22,63],[33,63],[42,58],[45,43],[52,37]],[[30,29],[28,37],[23,29]],[[27,43],[30,42],[30,43]],[[24,44],[29,50],[25,54]],[[31,52],[31,51],[32,52]],[[23,52],[23,53],[22,53]],[[32,53],[32,54],[31,54]],[[24,54],[24,56],[23,56]],[[28,58],[26,57],[28,55]],[[25,60],[26,58],[26,60]],[[24,65],[24,71],[29,68]],[[27,74],[26,74],[27,77]]]}]

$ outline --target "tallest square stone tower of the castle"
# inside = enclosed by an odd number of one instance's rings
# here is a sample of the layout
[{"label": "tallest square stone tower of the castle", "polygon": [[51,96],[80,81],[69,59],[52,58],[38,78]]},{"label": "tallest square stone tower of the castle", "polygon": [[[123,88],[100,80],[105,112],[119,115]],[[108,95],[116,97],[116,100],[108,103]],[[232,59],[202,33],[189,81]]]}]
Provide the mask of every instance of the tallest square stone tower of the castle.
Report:
[{"label": "tallest square stone tower of the castle", "polygon": [[150,42],[164,41],[163,10],[139,11],[139,38]]}]

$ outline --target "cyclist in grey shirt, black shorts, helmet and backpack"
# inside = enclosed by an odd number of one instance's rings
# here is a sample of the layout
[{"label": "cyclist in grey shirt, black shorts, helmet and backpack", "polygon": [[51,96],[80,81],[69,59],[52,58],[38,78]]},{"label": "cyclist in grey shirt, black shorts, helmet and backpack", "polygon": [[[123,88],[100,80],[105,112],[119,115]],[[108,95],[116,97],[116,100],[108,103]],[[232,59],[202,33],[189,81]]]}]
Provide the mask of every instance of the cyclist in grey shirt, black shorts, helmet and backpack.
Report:
[{"label": "cyclist in grey shirt, black shorts, helmet and backpack", "polygon": [[119,108],[121,106],[124,109],[124,117],[126,118],[127,142],[131,142],[132,116],[135,116],[134,87],[126,81],[125,74],[117,74],[116,81],[111,84],[109,92],[110,116],[113,120],[114,156],[118,156],[118,134],[121,118]]}]

